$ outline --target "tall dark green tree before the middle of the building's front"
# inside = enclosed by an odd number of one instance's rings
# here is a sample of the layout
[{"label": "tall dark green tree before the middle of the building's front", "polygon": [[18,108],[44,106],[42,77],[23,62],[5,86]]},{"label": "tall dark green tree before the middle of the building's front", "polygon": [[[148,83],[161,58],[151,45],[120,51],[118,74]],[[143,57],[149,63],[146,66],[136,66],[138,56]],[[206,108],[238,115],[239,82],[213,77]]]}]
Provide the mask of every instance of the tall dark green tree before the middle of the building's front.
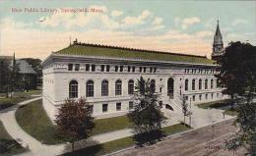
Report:
[{"label": "tall dark green tree before the middle of the building's front", "polygon": [[161,125],[164,117],[158,106],[159,95],[153,86],[150,78],[145,80],[141,77],[137,80],[134,91],[135,107],[127,115],[135,133],[133,138],[140,146],[154,143],[163,136]]}]

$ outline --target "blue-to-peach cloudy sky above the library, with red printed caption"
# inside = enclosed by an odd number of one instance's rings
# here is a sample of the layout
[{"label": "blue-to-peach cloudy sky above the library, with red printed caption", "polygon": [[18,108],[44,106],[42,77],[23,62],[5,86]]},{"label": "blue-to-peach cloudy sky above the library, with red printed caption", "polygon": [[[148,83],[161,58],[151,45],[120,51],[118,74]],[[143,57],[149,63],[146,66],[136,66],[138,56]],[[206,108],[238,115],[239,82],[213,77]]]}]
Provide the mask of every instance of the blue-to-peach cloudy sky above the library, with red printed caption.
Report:
[{"label": "blue-to-peach cloudy sky above the library, with red printed caption", "polygon": [[0,55],[45,59],[80,42],[210,58],[220,21],[224,46],[256,45],[256,1],[0,1]]}]

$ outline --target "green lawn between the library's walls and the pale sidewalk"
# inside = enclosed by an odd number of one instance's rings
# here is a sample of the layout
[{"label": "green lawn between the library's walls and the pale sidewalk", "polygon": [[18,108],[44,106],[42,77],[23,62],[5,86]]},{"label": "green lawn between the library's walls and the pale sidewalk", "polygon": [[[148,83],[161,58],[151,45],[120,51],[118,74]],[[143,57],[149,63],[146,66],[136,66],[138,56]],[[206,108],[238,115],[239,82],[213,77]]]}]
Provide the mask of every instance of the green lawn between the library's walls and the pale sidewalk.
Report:
[{"label": "green lawn between the library's walls and the pale sidewalk", "polygon": [[[37,140],[45,144],[65,142],[65,138],[57,135],[57,126],[53,125],[45,113],[41,100],[33,101],[18,109],[16,119],[19,125]],[[96,128],[92,135],[123,130],[129,126],[126,116],[96,120]]]}]

